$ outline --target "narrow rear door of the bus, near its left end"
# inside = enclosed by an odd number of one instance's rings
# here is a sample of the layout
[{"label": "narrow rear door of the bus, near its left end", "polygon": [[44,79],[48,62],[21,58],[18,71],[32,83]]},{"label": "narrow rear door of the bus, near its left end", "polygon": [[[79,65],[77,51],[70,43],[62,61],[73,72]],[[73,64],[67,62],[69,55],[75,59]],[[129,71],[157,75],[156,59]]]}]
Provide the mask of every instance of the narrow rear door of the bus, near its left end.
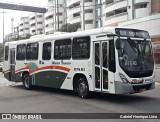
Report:
[{"label": "narrow rear door of the bus, near its left end", "polygon": [[10,49],[10,81],[15,81],[15,49]]}]

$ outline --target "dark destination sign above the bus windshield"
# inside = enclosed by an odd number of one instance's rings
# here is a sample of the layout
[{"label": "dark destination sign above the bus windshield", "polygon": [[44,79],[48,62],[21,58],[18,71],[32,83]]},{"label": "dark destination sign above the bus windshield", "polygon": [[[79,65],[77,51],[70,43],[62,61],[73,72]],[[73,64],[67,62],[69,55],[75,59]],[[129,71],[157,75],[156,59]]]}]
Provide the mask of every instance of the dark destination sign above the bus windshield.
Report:
[{"label": "dark destination sign above the bus windshield", "polygon": [[149,33],[147,31],[136,30],[136,29],[116,28],[116,34],[123,37],[145,38],[145,39],[150,38]]}]

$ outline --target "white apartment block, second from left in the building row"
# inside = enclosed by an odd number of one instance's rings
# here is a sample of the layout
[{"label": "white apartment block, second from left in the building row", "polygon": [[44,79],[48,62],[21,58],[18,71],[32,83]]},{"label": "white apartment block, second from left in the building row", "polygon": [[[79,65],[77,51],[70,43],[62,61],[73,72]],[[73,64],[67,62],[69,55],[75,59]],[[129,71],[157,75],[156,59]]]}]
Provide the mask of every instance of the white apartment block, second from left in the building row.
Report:
[{"label": "white apartment block, second from left in the building row", "polygon": [[44,14],[31,13],[29,15],[30,34],[38,35],[44,33]]}]

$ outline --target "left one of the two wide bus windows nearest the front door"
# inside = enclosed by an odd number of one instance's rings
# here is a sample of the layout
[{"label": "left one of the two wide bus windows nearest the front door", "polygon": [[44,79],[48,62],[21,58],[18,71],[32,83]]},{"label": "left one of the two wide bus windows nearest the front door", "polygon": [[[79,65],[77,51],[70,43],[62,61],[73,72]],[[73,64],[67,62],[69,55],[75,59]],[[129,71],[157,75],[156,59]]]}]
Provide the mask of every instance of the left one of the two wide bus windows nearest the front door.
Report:
[{"label": "left one of the two wide bus windows nearest the front door", "polygon": [[71,39],[56,40],[54,45],[54,59],[71,58]]}]

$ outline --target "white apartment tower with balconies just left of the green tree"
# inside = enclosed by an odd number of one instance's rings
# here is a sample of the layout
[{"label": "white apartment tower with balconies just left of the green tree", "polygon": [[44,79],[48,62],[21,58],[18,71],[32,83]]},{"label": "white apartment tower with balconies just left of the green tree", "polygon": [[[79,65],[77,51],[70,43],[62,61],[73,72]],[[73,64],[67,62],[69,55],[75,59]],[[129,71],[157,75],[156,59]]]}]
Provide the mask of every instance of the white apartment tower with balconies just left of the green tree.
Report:
[{"label": "white apartment tower with balconies just left of the green tree", "polygon": [[45,33],[51,34],[60,30],[65,24],[66,0],[48,0],[48,11],[45,13]]}]

